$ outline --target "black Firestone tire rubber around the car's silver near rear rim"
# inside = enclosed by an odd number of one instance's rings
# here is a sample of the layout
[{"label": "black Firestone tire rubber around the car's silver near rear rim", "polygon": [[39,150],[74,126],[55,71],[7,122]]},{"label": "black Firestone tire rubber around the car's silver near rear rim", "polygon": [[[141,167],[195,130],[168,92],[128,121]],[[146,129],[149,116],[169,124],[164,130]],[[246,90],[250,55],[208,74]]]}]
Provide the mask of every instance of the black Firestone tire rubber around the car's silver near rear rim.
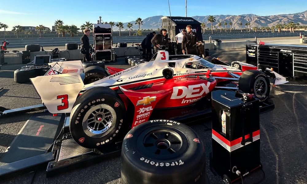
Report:
[{"label": "black Firestone tire rubber around the car's silver near rear rim", "polygon": [[[88,94],[88,93],[87,93]],[[82,94],[87,95],[87,94]],[[79,100],[78,104],[75,105],[75,107],[72,109],[71,113],[71,122],[69,125],[70,132],[72,134],[73,139],[80,144],[83,147],[86,148],[99,148],[103,145],[108,145],[112,143],[115,140],[115,137],[119,135],[119,133],[122,131],[122,123],[125,118],[125,108],[124,104],[122,103],[119,98],[116,96],[106,93],[106,94],[92,94],[90,96],[84,97],[83,99]],[[119,104],[119,106],[115,106],[115,104]],[[85,114],[89,109],[92,107],[99,105],[99,104],[106,104],[112,107],[115,111],[115,116],[113,117],[113,122],[111,127],[107,130],[107,132],[103,133],[105,134],[103,137],[100,138],[92,138],[88,136],[83,129],[83,119]],[[116,121],[114,119],[116,118]],[[109,131],[110,130],[110,131]],[[81,138],[84,138],[83,142],[80,142],[79,140]]]}]

